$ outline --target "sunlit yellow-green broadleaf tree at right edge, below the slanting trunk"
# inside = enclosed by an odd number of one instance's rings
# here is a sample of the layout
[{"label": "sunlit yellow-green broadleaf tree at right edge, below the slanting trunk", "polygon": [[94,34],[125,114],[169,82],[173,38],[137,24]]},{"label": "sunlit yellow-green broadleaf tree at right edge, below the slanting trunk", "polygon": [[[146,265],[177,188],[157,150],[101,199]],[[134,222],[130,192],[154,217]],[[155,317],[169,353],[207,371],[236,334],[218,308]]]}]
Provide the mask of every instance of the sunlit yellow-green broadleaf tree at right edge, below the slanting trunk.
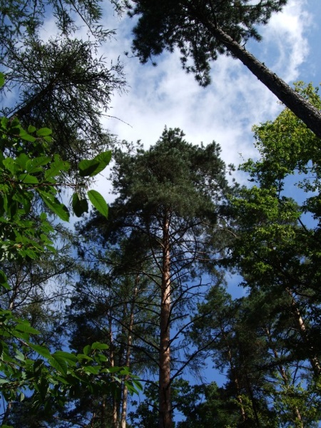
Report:
[{"label": "sunlit yellow-green broadleaf tree at right edge, below the slanting trunk", "polygon": [[[319,103],[312,86],[298,86]],[[315,377],[320,376],[320,166],[319,139],[288,110],[273,122],[255,127],[262,158],[243,165],[260,188],[243,191],[235,199],[239,213],[234,261],[250,287],[265,287],[287,295],[287,310],[295,320],[300,342],[297,350],[307,358]],[[301,202],[286,195],[287,179],[297,176]],[[309,195],[310,191],[313,195]],[[302,202],[303,201],[303,202]],[[310,220],[302,215],[310,215]],[[313,222],[313,220],[314,222]],[[304,351],[303,351],[304,349]]]}]

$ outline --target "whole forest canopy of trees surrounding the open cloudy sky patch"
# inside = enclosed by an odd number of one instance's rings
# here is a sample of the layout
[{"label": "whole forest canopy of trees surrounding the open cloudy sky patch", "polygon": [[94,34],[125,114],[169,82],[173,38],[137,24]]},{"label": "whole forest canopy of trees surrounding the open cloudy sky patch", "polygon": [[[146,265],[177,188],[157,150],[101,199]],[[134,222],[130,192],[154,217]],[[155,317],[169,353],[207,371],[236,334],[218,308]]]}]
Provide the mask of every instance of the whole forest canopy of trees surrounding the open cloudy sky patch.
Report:
[{"label": "whole forest canopy of trees surrounding the open cloudy sky patch", "polygon": [[233,56],[285,106],[239,173],[181,128],[119,141],[103,5],[0,4],[1,427],[317,427],[321,101],[244,47],[287,2],[112,3],[141,62]]}]

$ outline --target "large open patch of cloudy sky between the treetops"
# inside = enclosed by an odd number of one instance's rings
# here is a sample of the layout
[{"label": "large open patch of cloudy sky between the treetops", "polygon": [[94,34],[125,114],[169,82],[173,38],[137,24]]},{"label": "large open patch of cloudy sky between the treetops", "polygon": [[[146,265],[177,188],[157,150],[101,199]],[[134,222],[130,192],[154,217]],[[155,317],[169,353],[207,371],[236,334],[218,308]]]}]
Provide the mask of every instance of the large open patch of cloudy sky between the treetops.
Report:
[{"label": "large open patch of cloudy sky between the treetops", "polygon": [[[128,82],[126,93],[112,98],[108,114],[113,118],[103,121],[119,140],[141,140],[148,148],[167,126],[182,129],[190,143],[215,140],[227,164],[238,166],[258,156],[251,128],[273,120],[282,106],[243,63],[220,56],[212,64],[212,83],[201,88],[181,68],[178,52],[156,58],[156,67],[125,56],[131,51],[132,19],[120,19],[107,8],[103,24],[116,29],[103,54],[108,59],[120,57]],[[289,0],[260,33],[263,41],[250,41],[246,48],[267,67],[290,85],[299,80],[315,86],[321,83],[320,0]],[[236,177],[246,180],[240,173]],[[106,182],[99,180],[98,185],[103,190]]]}]

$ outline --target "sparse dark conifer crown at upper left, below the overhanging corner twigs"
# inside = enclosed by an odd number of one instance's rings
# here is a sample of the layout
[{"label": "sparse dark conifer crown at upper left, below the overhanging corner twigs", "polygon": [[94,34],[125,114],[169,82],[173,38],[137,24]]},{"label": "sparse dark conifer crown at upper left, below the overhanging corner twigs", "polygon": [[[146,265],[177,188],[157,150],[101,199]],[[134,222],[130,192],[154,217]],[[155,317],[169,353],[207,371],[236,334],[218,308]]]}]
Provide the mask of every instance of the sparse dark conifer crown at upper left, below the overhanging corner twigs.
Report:
[{"label": "sparse dark conifer crown at upper left, below the overhanging corner twigs", "polygon": [[[59,153],[77,170],[83,157],[106,150],[112,139],[101,127],[113,91],[125,85],[119,61],[97,58],[97,44],[58,36],[44,43],[27,39],[6,54],[6,91],[17,93],[14,106],[4,109],[23,126],[51,127]],[[32,58],[32,61],[31,61]]]}]

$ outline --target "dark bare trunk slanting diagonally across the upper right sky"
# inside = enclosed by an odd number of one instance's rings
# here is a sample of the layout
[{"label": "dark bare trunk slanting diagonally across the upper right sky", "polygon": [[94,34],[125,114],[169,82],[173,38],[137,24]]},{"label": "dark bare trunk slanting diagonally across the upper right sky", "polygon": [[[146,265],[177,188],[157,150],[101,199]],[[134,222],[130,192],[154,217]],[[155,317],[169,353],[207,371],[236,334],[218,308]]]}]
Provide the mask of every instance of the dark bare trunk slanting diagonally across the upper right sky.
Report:
[{"label": "dark bare trunk slanting diagonally across the upper right sky", "polygon": [[300,96],[299,93],[295,92],[282,80],[282,78],[278,77],[277,74],[272,73],[264,63],[258,61],[255,56],[240,46],[240,44],[234,41],[222,29],[217,28],[215,24],[204,18],[202,18],[201,21],[233,56],[240,59],[240,61],[242,61],[243,64],[247,66],[283,104],[285,104],[285,106],[290,108],[290,110],[305,123],[307,128],[310,128],[317,137],[321,138],[321,112],[317,108],[312,106],[312,104]]}]

